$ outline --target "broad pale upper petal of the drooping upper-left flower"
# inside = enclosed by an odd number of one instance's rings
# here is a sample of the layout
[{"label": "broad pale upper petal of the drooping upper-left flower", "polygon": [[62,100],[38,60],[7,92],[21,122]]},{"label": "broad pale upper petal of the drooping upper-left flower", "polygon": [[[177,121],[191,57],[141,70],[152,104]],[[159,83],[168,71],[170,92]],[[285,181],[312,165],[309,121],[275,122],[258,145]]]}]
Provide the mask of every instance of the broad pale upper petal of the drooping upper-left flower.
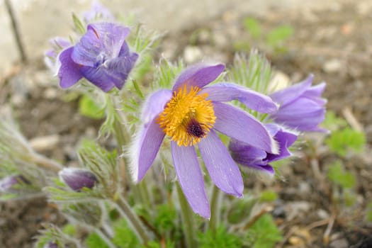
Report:
[{"label": "broad pale upper petal of the drooping upper-left flower", "polygon": [[129,32],[129,28],[115,23],[90,24],[86,34],[75,45],[72,60],[77,64],[94,67],[101,57],[118,57]]}]

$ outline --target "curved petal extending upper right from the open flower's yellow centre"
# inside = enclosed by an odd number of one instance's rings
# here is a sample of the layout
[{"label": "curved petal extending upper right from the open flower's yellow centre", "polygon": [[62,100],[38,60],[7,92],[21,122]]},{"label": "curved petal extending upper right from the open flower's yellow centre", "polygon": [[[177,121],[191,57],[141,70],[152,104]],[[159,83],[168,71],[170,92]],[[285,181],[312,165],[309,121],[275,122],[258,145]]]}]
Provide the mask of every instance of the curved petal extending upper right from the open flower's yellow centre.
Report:
[{"label": "curved petal extending upper right from the open flower's yellow centre", "polygon": [[238,100],[244,103],[247,108],[261,113],[273,113],[278,110],[278,106],[269,96],[259,94],[251,89],[244,88],[235,84],[223,83],[205,87],[201,94],[207,93],[208,100],[212,101],[232,101]]}]

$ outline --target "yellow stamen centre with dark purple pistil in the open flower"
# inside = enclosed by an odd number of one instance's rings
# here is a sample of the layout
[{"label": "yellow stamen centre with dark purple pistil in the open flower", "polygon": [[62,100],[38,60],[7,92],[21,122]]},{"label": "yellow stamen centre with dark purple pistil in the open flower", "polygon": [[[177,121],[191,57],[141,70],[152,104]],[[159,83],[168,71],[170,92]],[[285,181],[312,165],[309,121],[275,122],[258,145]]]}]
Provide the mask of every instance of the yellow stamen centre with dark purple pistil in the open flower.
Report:
[{"label": "yellow stamen centre with dark purple pistil in the open flower", "polygon": [[195,145],[215,123],[213,104],[205,99],[208,94],[198,94],[199,91],[196,86],[180,87],[157,119],[163,132],[179,146]]}]

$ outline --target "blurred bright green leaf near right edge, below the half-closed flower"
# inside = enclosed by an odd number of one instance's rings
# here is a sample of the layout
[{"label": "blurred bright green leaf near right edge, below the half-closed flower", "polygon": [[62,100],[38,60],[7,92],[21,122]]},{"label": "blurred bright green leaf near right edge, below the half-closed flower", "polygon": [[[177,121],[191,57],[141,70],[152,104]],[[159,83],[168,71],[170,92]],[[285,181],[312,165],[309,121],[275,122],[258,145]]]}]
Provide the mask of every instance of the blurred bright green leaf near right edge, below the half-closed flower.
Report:
[{"label": "blurred bright green leaf near right edge, below the half-closed flower", "polygon": [[349,150],[361,152],[366,145],[366,135],[349,127],[332,132],[325,143],[329,150],[336,152],[339,156],[346,156]]}]

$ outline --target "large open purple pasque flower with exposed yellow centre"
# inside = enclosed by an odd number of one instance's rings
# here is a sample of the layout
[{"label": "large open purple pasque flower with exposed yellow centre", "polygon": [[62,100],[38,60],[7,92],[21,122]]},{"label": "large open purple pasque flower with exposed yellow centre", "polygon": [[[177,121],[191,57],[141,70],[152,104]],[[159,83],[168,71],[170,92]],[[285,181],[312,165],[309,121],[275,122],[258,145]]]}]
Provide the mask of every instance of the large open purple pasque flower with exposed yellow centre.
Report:
[{"label": "large open purple pasque flower with exposed yellow centre", "polygon": [[263,113],[276,111],[276,103],[235,84],[208,86],[224,69],[223,64],[196,64],[179,74],[173,89],[151,94],[142,109],[142,129],[130,151],[133,178],[140,181],[167,135],[179,184],[193,211],[204,218],[210,217],[210,208],[196,145],[214,184],[238,197],[243,193],[242,176],[217,132],[278,153],[276,142],[259,120],[223,102],[238,100]]}]

